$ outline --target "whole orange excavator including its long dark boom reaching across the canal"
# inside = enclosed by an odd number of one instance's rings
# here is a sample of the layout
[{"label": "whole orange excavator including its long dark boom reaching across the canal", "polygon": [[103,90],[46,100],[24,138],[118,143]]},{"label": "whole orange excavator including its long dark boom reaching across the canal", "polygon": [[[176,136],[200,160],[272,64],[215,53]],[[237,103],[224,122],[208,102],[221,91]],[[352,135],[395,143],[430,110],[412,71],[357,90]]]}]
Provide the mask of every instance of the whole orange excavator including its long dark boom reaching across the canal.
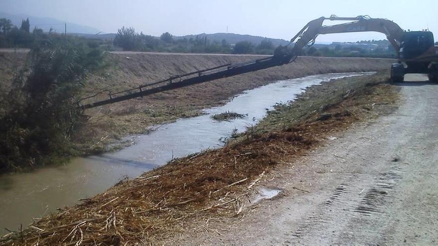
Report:
[{"label": "whole orange excavator including its long dark boom reaching across the canal", "polygon": [[[323,25],[326,20],[349,22],[326,26]],[[432,32],[425,30],[405,31],[391,20],[371,18],[368,15],[359,15],[357,17],[331,15],[330,17],[321,17],[310,21],[291,39],[288,45],[277,47],[271,57],[239,64],[225,64],[188,74],[171,76],[164,80],[144,83],[138,87],[115,93],[104,90],[80,99],[78,107],[85,110],[166,90],[285,65],[294,62],[304,47],[312,46],[318,35],[369,31],[385,34],[397,52],[398,63],[391,66],[392,82],[403,82],[406,74],[428,74],[430,81],[438,82],[438,46],[434,46]],[[109,98],[81,104],[82,101],[90,100],[105,91],[108,92]]]}]

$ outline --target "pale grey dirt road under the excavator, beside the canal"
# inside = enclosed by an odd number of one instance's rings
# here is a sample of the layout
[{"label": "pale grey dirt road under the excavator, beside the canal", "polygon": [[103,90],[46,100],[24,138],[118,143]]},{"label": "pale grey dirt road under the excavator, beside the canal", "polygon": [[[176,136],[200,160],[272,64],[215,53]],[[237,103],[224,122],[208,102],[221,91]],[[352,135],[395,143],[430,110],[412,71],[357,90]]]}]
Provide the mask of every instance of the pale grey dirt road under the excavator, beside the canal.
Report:
[{"label": "pale grey dirt road under the excavator, beside the canal", "polygon": [[438,85],[406,81],[398,109],[279,171],[283,196],[182,244],[438,244]]}]

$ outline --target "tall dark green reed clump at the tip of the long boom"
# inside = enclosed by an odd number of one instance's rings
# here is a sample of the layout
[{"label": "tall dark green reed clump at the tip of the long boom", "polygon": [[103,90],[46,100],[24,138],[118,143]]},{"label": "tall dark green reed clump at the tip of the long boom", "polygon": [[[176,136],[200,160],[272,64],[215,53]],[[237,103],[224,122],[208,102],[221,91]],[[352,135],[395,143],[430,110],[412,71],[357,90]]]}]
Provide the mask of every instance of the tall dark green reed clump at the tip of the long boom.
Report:
[{"label": "tall dark green reed clump at the tip of the long boom", "polygon": [[1,105],[0,170],[34,168],[70,154],[81,116],[76,96],[103,53],[74,37],[40,40]]}]

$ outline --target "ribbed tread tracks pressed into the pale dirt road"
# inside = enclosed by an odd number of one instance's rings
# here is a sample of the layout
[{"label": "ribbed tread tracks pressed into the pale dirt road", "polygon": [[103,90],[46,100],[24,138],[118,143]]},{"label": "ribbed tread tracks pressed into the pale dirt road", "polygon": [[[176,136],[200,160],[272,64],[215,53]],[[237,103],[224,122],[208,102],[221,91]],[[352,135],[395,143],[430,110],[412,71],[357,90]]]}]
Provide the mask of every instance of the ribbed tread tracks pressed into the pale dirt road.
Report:
[{"label": "ribbed tread tracks pressed into the pale dirt road", "polygon": [[[386,202],[396,196],[391,191],[402,177],[403,171],[397,164],[390,165],[386,171],[380,173],[351,174],[334,188],[322,209],[303,221],[291,234],[294,238],[287,240],[285,244],[310,243],[314,237],[321,238],[320,243],[329,244],[324,239],[349,236],[347,232],[335,230],[336,227],[347,227],[350,223],[375,223],[376,220],[380,221],[376,224],[381,224],[386,220],[383,212]],[[333,230],[330,231],[329,228]],[[368,233],[378,234],[381,230],[379,227],[374,229],[368,230]]]}]

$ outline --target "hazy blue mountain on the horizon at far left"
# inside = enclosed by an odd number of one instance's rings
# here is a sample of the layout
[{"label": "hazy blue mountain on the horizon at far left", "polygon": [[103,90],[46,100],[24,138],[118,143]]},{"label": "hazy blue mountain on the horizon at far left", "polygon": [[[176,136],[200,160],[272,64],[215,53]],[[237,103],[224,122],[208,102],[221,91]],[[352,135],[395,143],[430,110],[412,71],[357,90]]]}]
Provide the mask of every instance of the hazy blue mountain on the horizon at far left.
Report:
[{"label": "hazy blue mountain on the horizon at far left", "polygon": [[[31,31],[35,26],[37,26],[38,28],[43,29],[44,32],[48,32],[50,28],[52,28],[53,31],[55,32],[63,33],[64,23],[66,23],[65,21],[54,19],[54,18],[36,17],[26,14],[9,14],[4,12],[0,12],[0,18],[10,19],[12,24],[18,27],[20,27],[21,25],[21,20],[29,18]],[[100,32],[100,30],[94,27],[83,26],[83,25],[67,22],[67,33],[96,34],[98,32]]]}]

